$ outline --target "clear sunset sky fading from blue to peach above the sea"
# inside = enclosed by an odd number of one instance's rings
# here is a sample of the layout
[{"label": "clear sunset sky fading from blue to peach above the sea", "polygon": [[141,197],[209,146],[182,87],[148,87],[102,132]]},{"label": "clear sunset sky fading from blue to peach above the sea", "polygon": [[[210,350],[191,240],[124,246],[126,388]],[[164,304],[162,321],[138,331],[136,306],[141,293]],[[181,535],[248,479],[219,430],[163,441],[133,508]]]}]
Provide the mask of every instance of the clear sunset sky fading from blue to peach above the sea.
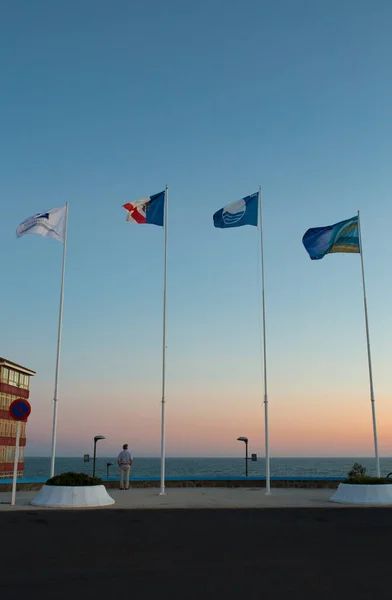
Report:
[{"label": "clear sunset sky fading from blue to peach above the sea", "polygon": [[26,455],[160,453],[163,229],[122,205],[169,186],[166,451],[264,453],[260,232],[212,215],[262,186],[271,456],[374,452],[359,255],[309,227],[361,211],[380,454],[392,455],[388,0],[14,0],[0,18],[0,355],[36,370]]}]

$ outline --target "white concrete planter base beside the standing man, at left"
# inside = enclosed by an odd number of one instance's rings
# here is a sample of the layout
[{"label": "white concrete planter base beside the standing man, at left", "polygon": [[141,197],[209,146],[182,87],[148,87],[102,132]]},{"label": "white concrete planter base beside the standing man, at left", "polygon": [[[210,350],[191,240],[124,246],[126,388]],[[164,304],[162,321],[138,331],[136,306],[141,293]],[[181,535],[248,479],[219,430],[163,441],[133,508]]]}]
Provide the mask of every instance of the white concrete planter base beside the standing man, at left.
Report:
[{"label": "white concrete planter base beside the standing man, at left", "polygon": [[86,506],[109,506],[114,504],[104,485],[62,486],[44,485],[31,501],[34,506],[48,508],[83,508]]}]

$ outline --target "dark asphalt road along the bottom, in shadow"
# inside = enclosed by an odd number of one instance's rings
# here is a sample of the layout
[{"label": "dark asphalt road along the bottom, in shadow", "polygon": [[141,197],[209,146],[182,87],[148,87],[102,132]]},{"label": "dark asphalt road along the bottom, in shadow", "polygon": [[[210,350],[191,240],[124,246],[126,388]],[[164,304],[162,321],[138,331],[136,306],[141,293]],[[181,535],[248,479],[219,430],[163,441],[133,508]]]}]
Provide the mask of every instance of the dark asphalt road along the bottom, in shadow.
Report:
[{"label": "dark asphalt road along the bottom, in shadow", "polygon": [[392,510],[0,513],[0,598],[392,597]]}]

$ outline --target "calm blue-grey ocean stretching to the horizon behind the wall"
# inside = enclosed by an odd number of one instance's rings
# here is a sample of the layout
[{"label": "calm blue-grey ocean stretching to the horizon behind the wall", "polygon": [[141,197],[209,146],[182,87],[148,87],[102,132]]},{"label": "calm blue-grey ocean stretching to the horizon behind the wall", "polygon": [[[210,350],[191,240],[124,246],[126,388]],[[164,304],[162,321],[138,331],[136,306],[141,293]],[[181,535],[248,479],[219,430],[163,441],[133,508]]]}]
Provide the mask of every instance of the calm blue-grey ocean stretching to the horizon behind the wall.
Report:
[{"label": "calm blue-grey ocean stretching to the horizon behind the wall", "polygon": [[[271,458],[271,477],[344,477],[354,462],[364,465],[369,475],[375,475],[374,458]],[[99,457],[96,461],[96,474],[106,476],[107,463],[109,476],[118,475],[116,457]],[[381,474],[385,477],[392,472],[392,458],[381,458]],[[84,462],[83,458],[56,458],[55,472],[76,471],[92,474],[93,462]],[[249,476],[265,476],[264,459],[248,461]],[[47,477],[50,471],[49,457],[26,457],[24,477]],[[159,458],[135,457],[131,477],[159,477]],[[224,477],[245,475],[243,458],[167,458],[167,477]]]}]

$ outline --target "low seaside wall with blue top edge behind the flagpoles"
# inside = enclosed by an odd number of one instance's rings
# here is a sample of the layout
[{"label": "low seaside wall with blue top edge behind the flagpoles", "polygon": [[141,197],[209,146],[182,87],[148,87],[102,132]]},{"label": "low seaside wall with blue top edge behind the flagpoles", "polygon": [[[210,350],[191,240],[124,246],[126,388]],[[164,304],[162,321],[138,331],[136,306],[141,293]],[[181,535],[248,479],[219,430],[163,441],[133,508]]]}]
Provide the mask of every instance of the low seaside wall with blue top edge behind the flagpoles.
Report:
[{"label": "low seaside wall with blue top edge behind the flagpoles", "polygon": [[[336,489],[343,481],[343,477],[330,478],[330,477],[288,477],[286,479],[280,479],[278,477],[271,478],[272,488],[312,488],[312,489]],[[17,483],[17,491],[30,491],[40,490],[46,480],[27,480]],[[118,489],[119,480],[115,478],[106,479],[103,478],[103,484],[106,489]],[[158,477],[150,479],[131,479],[131,488],[157,488],[160,486],[160,480]],[[263,488],[265,487],[265,479],[258,479],[256,477],[230,477],[230,478],[168,478],[165,481],[166,488],[212,488],[212,487],[224,487],[224,488]],[[0,492],[10,492],[12,489],[12,483],[0,480]]]}]

